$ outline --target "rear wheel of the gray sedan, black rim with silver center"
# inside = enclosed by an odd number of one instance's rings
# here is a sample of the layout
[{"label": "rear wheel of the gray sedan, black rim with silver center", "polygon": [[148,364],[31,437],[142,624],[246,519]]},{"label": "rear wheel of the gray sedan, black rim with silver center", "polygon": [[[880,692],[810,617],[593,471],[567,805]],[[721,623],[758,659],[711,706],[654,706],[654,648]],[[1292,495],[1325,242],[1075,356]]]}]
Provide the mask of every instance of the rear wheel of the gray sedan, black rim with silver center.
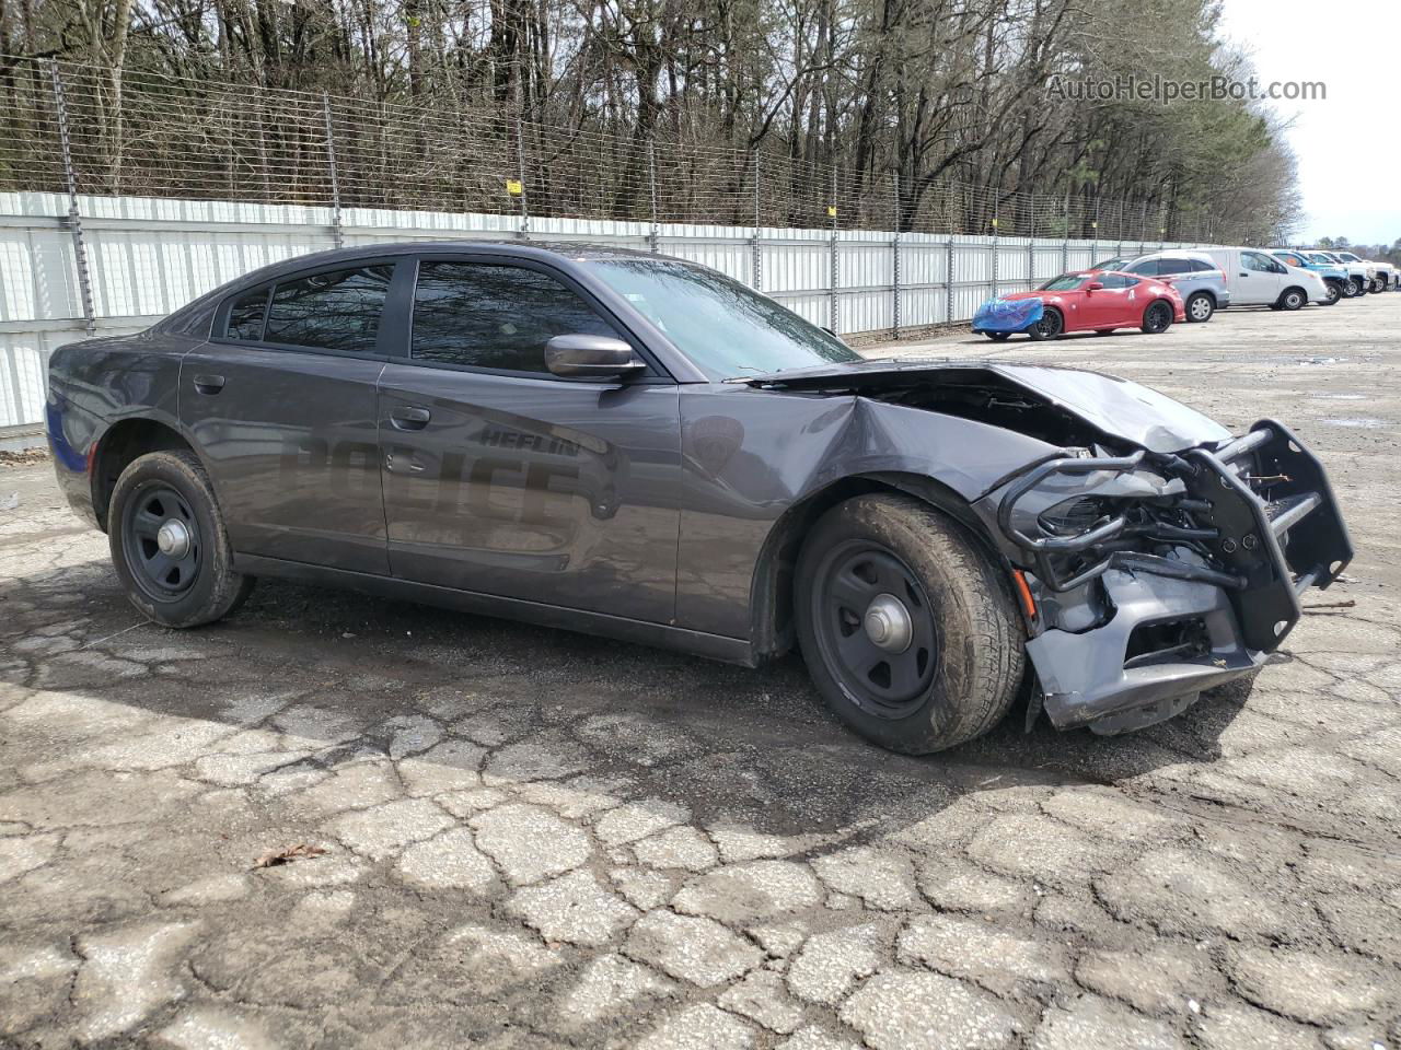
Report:
[{"label": "rear wheel of the gray sedan, black rim with silver center", "polygon": [[224,515],[193,452],[149,452],[116,479],[106,518],[112,564],[126,596],[165,627],[213,623],[254,578],[235,573]]}]

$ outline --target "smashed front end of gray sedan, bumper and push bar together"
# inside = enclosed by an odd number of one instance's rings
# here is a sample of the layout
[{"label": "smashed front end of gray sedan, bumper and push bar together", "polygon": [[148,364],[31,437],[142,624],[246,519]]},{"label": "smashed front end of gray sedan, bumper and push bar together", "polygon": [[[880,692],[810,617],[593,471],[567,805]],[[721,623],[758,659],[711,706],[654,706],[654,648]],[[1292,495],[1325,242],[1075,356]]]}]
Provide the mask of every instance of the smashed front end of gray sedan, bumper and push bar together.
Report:
[{"label": "smashed front end of gray sedan, bumper and push bar together", "polygon": [[1062,729],[1152,725],[1250,673],[1352,559],[1323,466],[1272,420],[1181,454],[1058,456],[991,500]]}]

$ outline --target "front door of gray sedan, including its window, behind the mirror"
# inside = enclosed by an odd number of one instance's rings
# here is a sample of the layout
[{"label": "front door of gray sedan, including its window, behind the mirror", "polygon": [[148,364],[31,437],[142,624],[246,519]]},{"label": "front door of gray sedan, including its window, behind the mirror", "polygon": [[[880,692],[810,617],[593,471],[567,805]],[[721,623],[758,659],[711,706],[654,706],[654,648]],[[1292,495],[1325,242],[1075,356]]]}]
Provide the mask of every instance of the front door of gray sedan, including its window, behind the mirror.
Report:
[{"label": "front door of gray sedan, including its window, behind the mirror", "polygon": [[394,575],[656,623],[675,612],[681,428],[654,365],[556,378],[556,335],[626,339],[548,267],[422,259],[380,378]]}]

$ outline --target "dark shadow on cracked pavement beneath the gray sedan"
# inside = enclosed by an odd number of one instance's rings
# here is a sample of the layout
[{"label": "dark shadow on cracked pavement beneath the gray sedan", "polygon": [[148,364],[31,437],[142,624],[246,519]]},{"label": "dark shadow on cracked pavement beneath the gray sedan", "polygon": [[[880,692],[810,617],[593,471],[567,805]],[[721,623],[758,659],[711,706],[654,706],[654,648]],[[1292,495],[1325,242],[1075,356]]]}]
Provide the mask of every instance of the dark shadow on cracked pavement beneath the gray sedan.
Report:
[{"label": "dark shadow on cracked pavement beneath the gray sedan", "polygon": [[[820,850],[888,836],[985,790],[1112,785],[1209,762],[1248,694],[1217,690],[1184,717],[1121,738],[1061,734],[1044,717],[1024,732],[1019,704],[979,741],[911,757],[831,717],[796,655],[734,668],[280,581],[261,581],[224,623],[174,631],[142,620],[102,561],[11,578],[0,609],[10,612],[0,680],[130,708],[115,741],[104,731],[92,743],[119,757],[144,748],[146,767],[161,767],[170,748],[165,764],[235,785],[224,770],[249,763],[212,756],[275,748],[286,762],[263,764],[307,783],[403,757],[458,766],[474,787],[584,778],[684,809],[700,826],[818,836]],[[207,745],[192,743],[198,732],[174,743],[170,720],[210,724]],[[113,727],[123,721],[112,715]],[[220,727],[270,742],[231,748]],[[59,753],[92,734],[81,718],[49,728]]]}]

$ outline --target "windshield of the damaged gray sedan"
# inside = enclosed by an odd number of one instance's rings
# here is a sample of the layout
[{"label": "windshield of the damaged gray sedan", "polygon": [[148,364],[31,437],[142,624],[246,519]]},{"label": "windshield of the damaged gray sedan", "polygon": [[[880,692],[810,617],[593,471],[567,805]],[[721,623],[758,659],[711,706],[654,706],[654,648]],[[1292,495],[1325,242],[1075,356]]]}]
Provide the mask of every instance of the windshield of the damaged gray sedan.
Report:
[{"label": "windshield of the damaged gray sedan", "polygon": [[713,270],[665,259],[586,265],[716,379],[862,360],[836,336]]}]

